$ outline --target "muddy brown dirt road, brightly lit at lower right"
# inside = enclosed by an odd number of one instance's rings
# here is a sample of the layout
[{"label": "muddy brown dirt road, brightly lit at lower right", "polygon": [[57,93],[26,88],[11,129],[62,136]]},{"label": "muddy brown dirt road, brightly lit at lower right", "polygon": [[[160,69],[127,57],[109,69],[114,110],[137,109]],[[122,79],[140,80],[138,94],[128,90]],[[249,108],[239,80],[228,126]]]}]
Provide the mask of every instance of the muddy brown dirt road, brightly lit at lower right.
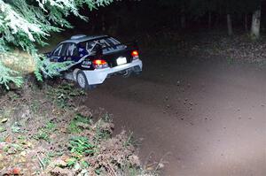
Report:
[{"label": "muddy brown dirt road, brightly lit at lower right", "polygon": [[106,80],[86,104],[142,139],[143,162],[168,161],[163,175],[265,176],[266,69],[185,59],[144,57],[142,75]]}]

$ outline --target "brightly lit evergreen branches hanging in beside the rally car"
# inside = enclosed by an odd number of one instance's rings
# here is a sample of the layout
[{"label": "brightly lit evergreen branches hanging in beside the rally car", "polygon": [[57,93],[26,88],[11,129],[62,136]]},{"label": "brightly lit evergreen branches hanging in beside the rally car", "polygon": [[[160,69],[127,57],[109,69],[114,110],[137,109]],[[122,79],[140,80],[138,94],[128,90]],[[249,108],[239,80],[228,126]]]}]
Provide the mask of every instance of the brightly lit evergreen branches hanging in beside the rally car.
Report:
[{"label": "brightly lit evergreen branches hanging in beside the rally car", "polygon": [[[87,20],[79,9],[87,6],[90,11],[99,6],[111,4],[113,0],[0,0],[0,84],[8,88],[9,82],[20,86],[22,78],[4,65],[4,59],[13,59],[14,48],[27,51],[35,60],[35,75],[42,80],[42,56],[36,50],[36,44],[43,42],[51,32],[60,32],[62,28],[72,27],[67,16],[74,15]],[[64,65],[49,65],[48,74],[56,73],[56,68]]]}]

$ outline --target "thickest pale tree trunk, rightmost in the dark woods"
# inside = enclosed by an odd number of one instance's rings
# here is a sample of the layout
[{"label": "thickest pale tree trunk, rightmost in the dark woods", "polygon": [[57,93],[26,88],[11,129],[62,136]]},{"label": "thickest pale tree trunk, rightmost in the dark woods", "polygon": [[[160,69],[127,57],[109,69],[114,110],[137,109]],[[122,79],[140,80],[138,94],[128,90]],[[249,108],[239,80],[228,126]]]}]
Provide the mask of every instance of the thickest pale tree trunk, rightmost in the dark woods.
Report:
[{"label": "thickest pale tree trunk, rightmost in the dark woods", "polygon": [[252,14],[251,35],[256,39],[260,37],[261,26],[261,9],[254,11]]}]

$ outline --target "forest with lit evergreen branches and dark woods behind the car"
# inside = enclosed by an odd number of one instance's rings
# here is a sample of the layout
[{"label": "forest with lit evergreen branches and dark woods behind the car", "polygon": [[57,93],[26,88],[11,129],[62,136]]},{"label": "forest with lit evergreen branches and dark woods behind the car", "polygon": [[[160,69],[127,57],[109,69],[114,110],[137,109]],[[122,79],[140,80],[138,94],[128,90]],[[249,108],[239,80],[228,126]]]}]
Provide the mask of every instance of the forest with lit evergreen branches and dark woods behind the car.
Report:
[{"label": "forest with lit evergreen branches and dark woods behind the car", "polygon": [[[52,32],[66,28],[91,34],[154,34],[161,30],[200,31],[213,28],[232,35],[245,30],[252,38],[260,37],[263,1],[222,0],[87,0],[87,1],[1,1],[1,60],[12,50],[24,50],[35,62],[35,75],[41,80],[40,55],[36,45],[44,45]],[[105,7],[103,7],[105,6]],[[98,10],[96,10],[98,9]],[[90,11],[93,10],[93,11]],[[86,20],[90,23],[86,25]],[[85,24],[85,25],[84,25]],[[20,76],[11,76],[12,68],[1,62],[1,84],[21,84]],[[62,66],[62,65],[61,65]],[[11,69],[11,70],[10,70]]]}]

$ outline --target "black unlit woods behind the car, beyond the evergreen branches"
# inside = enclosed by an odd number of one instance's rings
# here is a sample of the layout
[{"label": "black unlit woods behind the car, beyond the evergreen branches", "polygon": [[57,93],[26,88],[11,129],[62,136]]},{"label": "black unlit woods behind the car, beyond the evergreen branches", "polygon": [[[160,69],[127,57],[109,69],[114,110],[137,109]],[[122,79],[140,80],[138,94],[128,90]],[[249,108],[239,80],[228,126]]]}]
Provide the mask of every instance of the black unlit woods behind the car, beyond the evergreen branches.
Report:
[{"label": "black unlit woods behind the car, beyond the evergreen branches", "polygon": [[[227,32],[226,15],[231,14],[234,33],[248,32],[252,13],[261,5],[261,29],[266,23],[263,14],[265,2],[236,0],[123,0],[89,11],[84,7],[82,15],[89,17],[85,22],[70,17],[74,34],[154,35],[175,31],[188,34],[206,30]],[[184,18],[184,25],[182,25]],[[209,19],[210,18],[210,19]],[[246,18],[246,19],[245,19]],[[69,30],[67,30],[69,31]]]}]

